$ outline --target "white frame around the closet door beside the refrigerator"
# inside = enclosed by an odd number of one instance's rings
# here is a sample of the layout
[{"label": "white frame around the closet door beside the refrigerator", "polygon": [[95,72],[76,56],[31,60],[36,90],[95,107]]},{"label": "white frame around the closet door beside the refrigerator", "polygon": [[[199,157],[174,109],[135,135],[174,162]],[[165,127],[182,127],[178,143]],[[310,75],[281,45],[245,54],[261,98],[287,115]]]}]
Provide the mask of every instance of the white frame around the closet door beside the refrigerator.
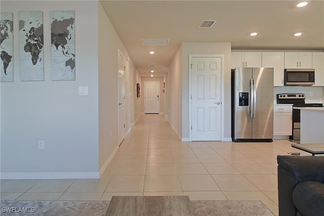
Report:
[{"label": "white frame around the closet door beside the refrigerator", "polygon": [[192,142],[192,58],[221,58],[221,141],[224,141],[224,55],[223,54],[202,54],[202,55],[189,55],[189,142]]}]

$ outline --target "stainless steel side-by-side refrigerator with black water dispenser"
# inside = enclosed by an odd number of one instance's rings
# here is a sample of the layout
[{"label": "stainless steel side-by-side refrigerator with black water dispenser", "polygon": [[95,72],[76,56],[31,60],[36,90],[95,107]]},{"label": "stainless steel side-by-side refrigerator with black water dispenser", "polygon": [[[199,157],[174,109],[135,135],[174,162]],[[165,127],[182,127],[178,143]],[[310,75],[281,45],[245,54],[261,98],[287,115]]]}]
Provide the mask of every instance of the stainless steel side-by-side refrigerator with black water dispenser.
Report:
[{"label": "stainless steel side-by-side refrigerator with black water dispenser", "polygon": [[232,141],[272,142],[273,68],[232,70]]}]

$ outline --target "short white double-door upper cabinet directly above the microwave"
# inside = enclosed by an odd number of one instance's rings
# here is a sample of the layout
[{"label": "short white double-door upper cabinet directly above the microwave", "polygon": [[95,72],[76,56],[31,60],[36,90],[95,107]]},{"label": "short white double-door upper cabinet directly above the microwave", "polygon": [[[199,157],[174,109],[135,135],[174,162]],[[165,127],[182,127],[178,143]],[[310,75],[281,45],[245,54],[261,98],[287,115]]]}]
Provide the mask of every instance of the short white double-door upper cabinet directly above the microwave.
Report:
[{"label": "short white double-door upper cabinet directly above the microwave", "polygon": [[312,53],[285,53],[285,68],[312,68]]}]

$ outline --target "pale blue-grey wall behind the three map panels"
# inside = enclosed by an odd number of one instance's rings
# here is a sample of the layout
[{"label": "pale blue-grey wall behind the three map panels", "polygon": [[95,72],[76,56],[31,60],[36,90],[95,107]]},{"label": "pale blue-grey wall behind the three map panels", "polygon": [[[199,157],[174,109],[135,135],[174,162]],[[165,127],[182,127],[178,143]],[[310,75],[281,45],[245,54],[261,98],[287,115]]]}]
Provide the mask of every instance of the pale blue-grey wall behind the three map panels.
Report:
[{"label": "pale blue-grey wall behind the three map panels", "polygon": [[[75,81],[51,80],[52,10],[75,11]],[[43,11],[45,81],[20,81],[19,11]],[[1,12],[14,13],[15,35],[15,81],[1,83],[2,178],[98,177],[98,3],[1,1]]]}]

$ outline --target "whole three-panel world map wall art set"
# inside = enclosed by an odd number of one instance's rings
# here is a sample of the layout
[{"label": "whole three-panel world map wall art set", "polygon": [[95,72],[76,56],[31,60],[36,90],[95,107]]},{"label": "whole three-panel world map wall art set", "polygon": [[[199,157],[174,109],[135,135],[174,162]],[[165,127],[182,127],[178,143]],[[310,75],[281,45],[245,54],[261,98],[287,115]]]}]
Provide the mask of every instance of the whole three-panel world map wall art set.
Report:
[{"label": "whole three-panel world map wall art set", "polygon": [[[45,64],[50,63],[52,80],[75,80],[74,14],[74,11],[50,12],[51,32],[46,34],[45,39],[51,40],[49,49],[51,61],[44,61],[43,12],[20,11],[18,13],[18,58],[21,81],[44,81]],[[0,13],[0,81],[2,82],[14,81],[13,15],[11,12]],[[50,35],[50,38],[47,35]]]}]

